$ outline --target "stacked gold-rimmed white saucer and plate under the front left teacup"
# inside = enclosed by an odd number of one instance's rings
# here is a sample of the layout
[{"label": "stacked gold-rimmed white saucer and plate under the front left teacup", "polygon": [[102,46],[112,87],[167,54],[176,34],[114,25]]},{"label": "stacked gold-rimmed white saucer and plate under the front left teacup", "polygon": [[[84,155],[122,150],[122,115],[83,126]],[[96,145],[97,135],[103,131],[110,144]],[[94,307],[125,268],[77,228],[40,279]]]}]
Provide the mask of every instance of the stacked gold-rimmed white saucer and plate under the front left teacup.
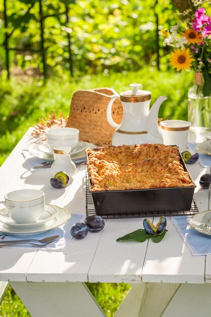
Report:
[{"label": "stacked gold-rimmed white saucer and plate under the front left teacup", "polygon": [[54,205],[45,205],[41,217],[33,223],[16,223],[4,208],[0,210],[0,231],[9,235],[32,235],[48,231],[64,224],[70,218],[70,213]]}]

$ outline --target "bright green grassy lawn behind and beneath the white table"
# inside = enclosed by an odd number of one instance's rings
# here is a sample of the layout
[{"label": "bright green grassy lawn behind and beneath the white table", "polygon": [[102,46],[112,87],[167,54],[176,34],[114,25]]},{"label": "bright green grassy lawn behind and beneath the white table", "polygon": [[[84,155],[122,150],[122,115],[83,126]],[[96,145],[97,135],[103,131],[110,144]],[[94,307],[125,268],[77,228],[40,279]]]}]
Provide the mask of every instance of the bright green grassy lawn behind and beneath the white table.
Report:
[{"label": "bright green grassy lawn behind and beneath the white table", "polygon": [[[81,78],[55,79],[46,83],[41,80],[13,78],[7,82],[0,77],[0,166],[12,149],[39,117],[47,112],[69,114],[74,91],[99,87],[111,87],[120,93],[129,89],[133,82],[142,83],[143,89],[152,92],[152,102],[160,95],[168,98],[159,111],[163,119],[187,120],[187,92],[192,85],[192,73],[158,72],[155,68],[144,68],[138,72],[102,74]],[[107,314],[113,316],[120,302],[130,289],[127,284],[87,284]],[[9,288],[0,307],[0,317],[27,317],[30,314]]]}]

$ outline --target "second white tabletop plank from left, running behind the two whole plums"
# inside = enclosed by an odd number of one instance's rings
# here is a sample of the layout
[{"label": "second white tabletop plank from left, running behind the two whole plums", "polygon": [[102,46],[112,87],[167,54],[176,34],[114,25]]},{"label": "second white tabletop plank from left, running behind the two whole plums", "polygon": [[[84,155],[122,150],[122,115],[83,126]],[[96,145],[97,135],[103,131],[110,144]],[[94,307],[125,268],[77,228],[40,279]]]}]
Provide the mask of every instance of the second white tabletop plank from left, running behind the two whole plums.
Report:
[{"label": "second white tabletop plank from left, running behind the two whole plums", "polygon": [[[32,180],[36,184],[37,174],[34,174]],[[50,185],[48,171],[45,175],[45,197],[49,203],[67,208],[70,213],[85,214],[85,167],[81,167],[72,184],[61,191]],[[27,281],[87,282],[102,232],[88,233],[82,240],[72,239],[61,252],[38,251],[27,270]]]}]

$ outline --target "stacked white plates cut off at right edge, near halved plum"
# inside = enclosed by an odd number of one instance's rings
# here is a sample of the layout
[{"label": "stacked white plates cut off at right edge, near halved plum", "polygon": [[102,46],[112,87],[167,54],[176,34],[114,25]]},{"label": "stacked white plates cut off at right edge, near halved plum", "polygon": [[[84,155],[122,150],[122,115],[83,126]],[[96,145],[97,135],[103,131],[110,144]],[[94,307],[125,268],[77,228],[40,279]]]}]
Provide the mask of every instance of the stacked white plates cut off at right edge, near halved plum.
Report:
[{"label": "stacked white plates cut off at right edge, near halved plum", "polygon": [[203,211],[190,219],[190,225],[200,233],[211,235],[211,210]]}]

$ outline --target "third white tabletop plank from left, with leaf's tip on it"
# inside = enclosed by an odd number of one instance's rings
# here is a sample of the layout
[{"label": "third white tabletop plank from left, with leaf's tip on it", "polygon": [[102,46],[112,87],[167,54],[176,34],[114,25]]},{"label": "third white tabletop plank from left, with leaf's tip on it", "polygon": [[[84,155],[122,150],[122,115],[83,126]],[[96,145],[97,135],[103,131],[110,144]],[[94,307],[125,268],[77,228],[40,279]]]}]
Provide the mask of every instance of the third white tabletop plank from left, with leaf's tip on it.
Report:
[{"label": "third white tabletop plank from left, with leaf's tip on it", "polygon": [[141,226],[142,218],[107,220],[89,271],[89,282],[141,282],[148,241],[116,242],[118,237]]}]

